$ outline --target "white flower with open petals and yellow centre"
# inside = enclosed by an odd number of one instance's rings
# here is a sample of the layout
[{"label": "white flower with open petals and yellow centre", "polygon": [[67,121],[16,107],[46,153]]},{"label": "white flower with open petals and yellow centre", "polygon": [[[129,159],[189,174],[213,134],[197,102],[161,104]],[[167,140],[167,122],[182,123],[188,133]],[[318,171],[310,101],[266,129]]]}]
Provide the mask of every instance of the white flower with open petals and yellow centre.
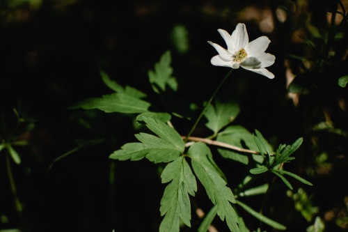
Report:
[{"label": "white flower with open petals and yellow centre", "polygon": [[210,61],[212,65],[242,68],[264,75],[270,79],[274,78],[274,74],[266,68],[274,64],[276,56],[266,53],[269,42],[267,36],[261,36],[249,42],[248,33],[246,32],[245,24],[239,23],[235,31],[230,35],[223,29],[218,30],[223,40],[225,40],[227,49],[214,42],[209,42],[219,55],[216,55]]}]

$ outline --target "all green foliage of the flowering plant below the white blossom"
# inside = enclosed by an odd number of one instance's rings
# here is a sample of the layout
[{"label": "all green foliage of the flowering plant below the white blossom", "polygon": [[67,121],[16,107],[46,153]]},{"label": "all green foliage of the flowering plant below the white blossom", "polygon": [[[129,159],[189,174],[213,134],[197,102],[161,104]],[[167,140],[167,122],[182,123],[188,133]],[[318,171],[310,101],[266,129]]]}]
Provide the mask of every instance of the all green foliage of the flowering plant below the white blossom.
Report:
[{"label": "all green foliage of the flowering plant below the white blossom", "polygon": [[[155,70],[148,72],[150,84],[164,105],[175,105],[173,102],[179,102],[173,95],[177,91],[177,82],[172,73],[171,53],[168,51],[155,64]],[[161,182],[168,185],[160,204],[163,219],[159,231],[178,232],[184,225],[191,226],[190,196],[195,196],[197,192],[196,178],[214,205],[198,231],[207,231],[218,215],[222,221],[226,221],[230,231],[249,232],[243,218],[237,214],[237,206],[274,229],[286,229],[282,224],[256,212],[241,201],[236,201],[234,192],[240,197],[266,194],[270,187],[268,183],[257,186],[253,186],[252,183],[255,178],[269,171],[283,180],[290,189],[292,185],[284,176],[291,176],[306,185],[312,185],[296,174],[282,169],[285,162],[294,160],[290,155],[301,146],[302,138],[297,139],[291,146],[280,144],[274,153],[273,147],[260,131],[255,130],[252,134],[242,125],[230,125],[239,114],[237,102],[216,101],[203,110],[207,119],[205,126],[213,132],[212,136],[209,139],[198,138],[197,142],[185,144],[183,137],[171,122],[172,115],[179,115],[173,111],[175,107],[166,107],[168,111],[164,112],[149,111],[150,103],[141,100],[146,97],[145,93],[130,86],[120,86],[103,71],[100,74],[104,84],[116,93],[104,95],[102,98],[88,98],[70,109],[100,109],[107,113],[137,114],[134,118],[139,123],[138,129],[144,132],[135,134],[137,142],[124,144],[109,157],[113,160],[132,161],[146,158],[150,162],[166,163],[161,164],[166,165],[161,173]],[[203,112],[200,116],[203,116]],[[152,134],[148,133],[149,130]],[[250,174],[246,174],[243,182],[235,190],[228,186],[228,179],[214,162],[212,150],[203,142],[218,146],[217,151],[223,158],[248,166]],[[187,162],[188,158],[191,160],[191,166]]]}]

